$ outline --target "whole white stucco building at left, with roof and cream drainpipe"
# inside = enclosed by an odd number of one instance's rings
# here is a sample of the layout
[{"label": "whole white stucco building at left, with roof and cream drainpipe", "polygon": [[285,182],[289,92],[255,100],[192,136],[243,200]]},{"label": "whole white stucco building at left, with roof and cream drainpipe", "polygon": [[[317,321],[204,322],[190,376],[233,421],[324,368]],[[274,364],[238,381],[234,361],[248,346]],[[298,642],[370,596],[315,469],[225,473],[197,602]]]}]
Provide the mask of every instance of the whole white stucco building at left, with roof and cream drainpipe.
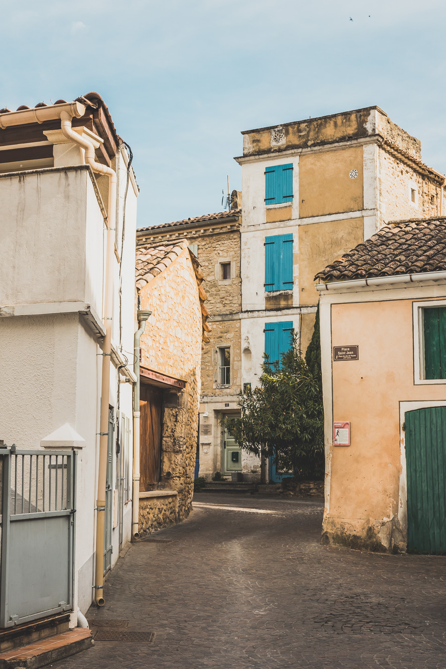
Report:
[{"label": "whole white stucco building at left, with roof and cream drainpipe", "polygon": [[78,452],[72,625],[102,597],[101,565],[116,563],[132,529],[138,187],[128,160],[98,94],[0,110],[0,438]]}]

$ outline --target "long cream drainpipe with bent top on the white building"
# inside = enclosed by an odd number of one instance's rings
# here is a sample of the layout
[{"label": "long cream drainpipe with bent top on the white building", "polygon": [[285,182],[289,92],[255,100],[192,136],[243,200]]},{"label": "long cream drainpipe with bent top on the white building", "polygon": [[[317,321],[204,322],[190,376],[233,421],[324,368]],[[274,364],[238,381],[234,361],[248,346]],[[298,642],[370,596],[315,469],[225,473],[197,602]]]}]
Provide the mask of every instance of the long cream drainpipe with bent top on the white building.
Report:
[{"label": "long cream drainpipe with bent top on the white building", "polygon": [[96,568],[94,579],[94,599],[98,606],[104,606],[104,520],[106,506],[107,445],[108,445],[108,399],[110,395],[110,363],[112,354],[112,310],[113,310],[113,268],[114,239],[116,227],[116,172],[96,161],[92,142],[72,129],[72,115],[66,110],[60,112],[62,134],[82,147],[85,161],[98,174],[108,176],[108,216],[104,321],[106,336],[102,347],[102,387],[99,427],[98,497],[96,499]]}]

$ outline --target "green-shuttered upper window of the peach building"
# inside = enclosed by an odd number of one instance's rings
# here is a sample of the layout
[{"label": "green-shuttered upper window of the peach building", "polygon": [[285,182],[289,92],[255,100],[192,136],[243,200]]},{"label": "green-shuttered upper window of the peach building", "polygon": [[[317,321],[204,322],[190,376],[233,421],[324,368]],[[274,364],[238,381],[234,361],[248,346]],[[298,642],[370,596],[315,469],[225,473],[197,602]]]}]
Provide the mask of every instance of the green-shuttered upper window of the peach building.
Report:
[{"label": "green-shuttered upper window of the peach building", "polygon": [[446,307],[423,309],[425,379],[446,379]]}]

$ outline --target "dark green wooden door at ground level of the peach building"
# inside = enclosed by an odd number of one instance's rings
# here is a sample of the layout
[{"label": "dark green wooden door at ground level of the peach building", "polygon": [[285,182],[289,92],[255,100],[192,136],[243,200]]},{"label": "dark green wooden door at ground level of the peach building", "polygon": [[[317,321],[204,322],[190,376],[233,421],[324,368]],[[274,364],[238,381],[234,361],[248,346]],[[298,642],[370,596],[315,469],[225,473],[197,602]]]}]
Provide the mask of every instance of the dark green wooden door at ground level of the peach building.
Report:
[{"label": "dark green wooden door at ground level of the peach building", "polygon": [[407,549],[446,554],[446,407],[405,414]]}]

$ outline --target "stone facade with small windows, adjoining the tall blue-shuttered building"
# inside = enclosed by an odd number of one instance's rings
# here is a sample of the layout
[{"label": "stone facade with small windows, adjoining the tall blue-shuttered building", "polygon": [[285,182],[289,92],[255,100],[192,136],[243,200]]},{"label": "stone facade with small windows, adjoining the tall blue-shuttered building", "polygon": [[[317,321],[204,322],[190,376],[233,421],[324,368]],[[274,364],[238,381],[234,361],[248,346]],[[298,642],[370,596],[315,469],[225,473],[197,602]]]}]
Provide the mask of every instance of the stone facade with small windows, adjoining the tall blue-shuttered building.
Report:
[{"label": "stone facade with small windows, adjoining the tall blue-shuttered building", "polygon": [[[201,357],[200,427],[197,440],[199,473],[208,480],[215,472],[243,472],[258,478],[259,461],[231,443],[226,456],[223,415],[237,415],[238,393],[243,388],[241,359],[240,225],[241,193],[233,191],[231,209],[174,223],[139,229],[136,244],[189,242],[205,277],[207,308],[212,330]],[[229,349],[229,371],[222,379],[221,351]],[[225,381],[225,383],[221,383]],[[230,441],[230,438],[229,438]],[[233,455],[235,453],[235,455]],[[233,462],[231,458],[238,458]],[[229,462],[225,462],[229,460]],[[229,467],[227,466],[229,464]]]}]

